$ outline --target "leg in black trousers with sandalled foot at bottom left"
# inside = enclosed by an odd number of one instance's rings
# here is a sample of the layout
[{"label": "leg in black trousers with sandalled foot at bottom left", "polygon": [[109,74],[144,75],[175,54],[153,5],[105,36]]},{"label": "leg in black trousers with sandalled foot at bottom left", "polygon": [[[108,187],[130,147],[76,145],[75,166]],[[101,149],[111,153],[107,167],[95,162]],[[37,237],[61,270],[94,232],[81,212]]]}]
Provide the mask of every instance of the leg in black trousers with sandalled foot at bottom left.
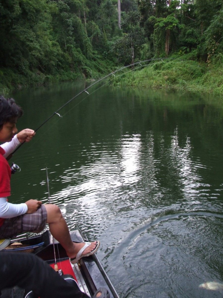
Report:
[{"label": "leg in black trousers with sandalled foot at bottom left", "polygon": [[[17,285],[41,298],[89,298],[78,285],[67,283],[53,268],[31,253],[0,252],[0,275],[0,291]],[[102,288],[94,297],[109,298],[110,295]]]}]

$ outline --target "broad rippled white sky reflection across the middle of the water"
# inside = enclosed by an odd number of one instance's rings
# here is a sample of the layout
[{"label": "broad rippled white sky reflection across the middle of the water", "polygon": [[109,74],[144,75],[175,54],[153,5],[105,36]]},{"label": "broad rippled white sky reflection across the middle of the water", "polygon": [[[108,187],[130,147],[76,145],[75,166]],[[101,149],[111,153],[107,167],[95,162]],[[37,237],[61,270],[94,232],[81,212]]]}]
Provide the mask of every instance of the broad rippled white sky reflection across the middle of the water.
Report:
[{"label": "broad rippled white sky reflection across the middle of the water", "polygon": [[[199,173],[207,166],[192,156],[190,138],[187,137],[184,144],[179,145],[176,128],[169,146],[161,135],[159,156],[155,156],[155,150],[151,133],[145,139],[139,134],[125,135],[116,142],[113,150],[106,142],[92,143],[88,150],[84,148],[80,152],[81,156],[85,156],[84,164],[73,162],[56,178],[64,187],[53,194],[52,201],[66,203],[78,199],[79,203],[88,202],[93,206],[98,203],[100,194],[116,188],[117,193],[123,195],[126,187],[129,195],[136,191],[138,194],[147,192],[160,200],[172,192],[171,187],[176,187],[182,196],[180,201],[186,200],[187,209],[192,205],[193,210],[199,209],[210,185],[203,181]],[[216,192],[216,195],[219,194]]]}]

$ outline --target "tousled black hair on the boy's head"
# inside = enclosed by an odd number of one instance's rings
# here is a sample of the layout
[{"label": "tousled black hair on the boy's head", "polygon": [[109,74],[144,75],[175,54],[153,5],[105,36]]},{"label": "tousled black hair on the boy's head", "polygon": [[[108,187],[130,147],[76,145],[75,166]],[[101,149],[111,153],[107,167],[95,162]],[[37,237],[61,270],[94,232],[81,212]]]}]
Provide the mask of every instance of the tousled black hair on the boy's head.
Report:
[{"label": "tousled black hair on the boy's head", "polygon": [[0,95],[0,130],[6,122],[13,122],[15,118],[23,115],[22,108],[15,103],[13,98],[4,98]]}]

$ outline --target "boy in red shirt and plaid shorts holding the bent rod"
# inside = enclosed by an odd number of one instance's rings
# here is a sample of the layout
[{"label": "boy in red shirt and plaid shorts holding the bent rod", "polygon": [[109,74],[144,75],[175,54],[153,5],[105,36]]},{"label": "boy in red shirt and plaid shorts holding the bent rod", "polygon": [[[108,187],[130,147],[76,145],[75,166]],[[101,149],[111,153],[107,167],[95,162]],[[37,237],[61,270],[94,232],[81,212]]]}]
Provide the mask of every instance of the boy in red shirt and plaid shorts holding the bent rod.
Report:
[{"label": "boy in red shirt and plaid shorts holding the bent rod", "polygon": [[46,224],[52,236],[66,250],[71,263],[77,263],[82,257],[94,254],[99,241],[73,243],[61,210],[54,204],[42,204],[30,199],[25,203],[12,204],[10,196],[11,169],[6,160],[14,149],[23,142],[29,142],[35,132],[24,129],[19,133],[17,120],[23,115],[20,106],[12,98],[0,96],[0,239],[13,237],[21,232],[41,232]]}]

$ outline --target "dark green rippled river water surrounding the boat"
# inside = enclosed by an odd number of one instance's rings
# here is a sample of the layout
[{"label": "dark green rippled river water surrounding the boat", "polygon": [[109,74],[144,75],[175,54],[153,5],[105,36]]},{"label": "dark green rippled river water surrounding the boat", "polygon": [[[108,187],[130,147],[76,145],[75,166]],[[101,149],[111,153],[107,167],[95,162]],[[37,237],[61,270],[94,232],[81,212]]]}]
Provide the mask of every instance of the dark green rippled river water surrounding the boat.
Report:
[{"label": "dark green rippled river water surrounding the boat", "polygon": [[[18,129],[36,129],[85,87],[11,94],[24,109]],[[199,94],[88,91],[15,153],[11,202],[47,203],[48,167],[52,203],[71,230],[100,240],[120,297],[222,298],[223,105]]]}]

